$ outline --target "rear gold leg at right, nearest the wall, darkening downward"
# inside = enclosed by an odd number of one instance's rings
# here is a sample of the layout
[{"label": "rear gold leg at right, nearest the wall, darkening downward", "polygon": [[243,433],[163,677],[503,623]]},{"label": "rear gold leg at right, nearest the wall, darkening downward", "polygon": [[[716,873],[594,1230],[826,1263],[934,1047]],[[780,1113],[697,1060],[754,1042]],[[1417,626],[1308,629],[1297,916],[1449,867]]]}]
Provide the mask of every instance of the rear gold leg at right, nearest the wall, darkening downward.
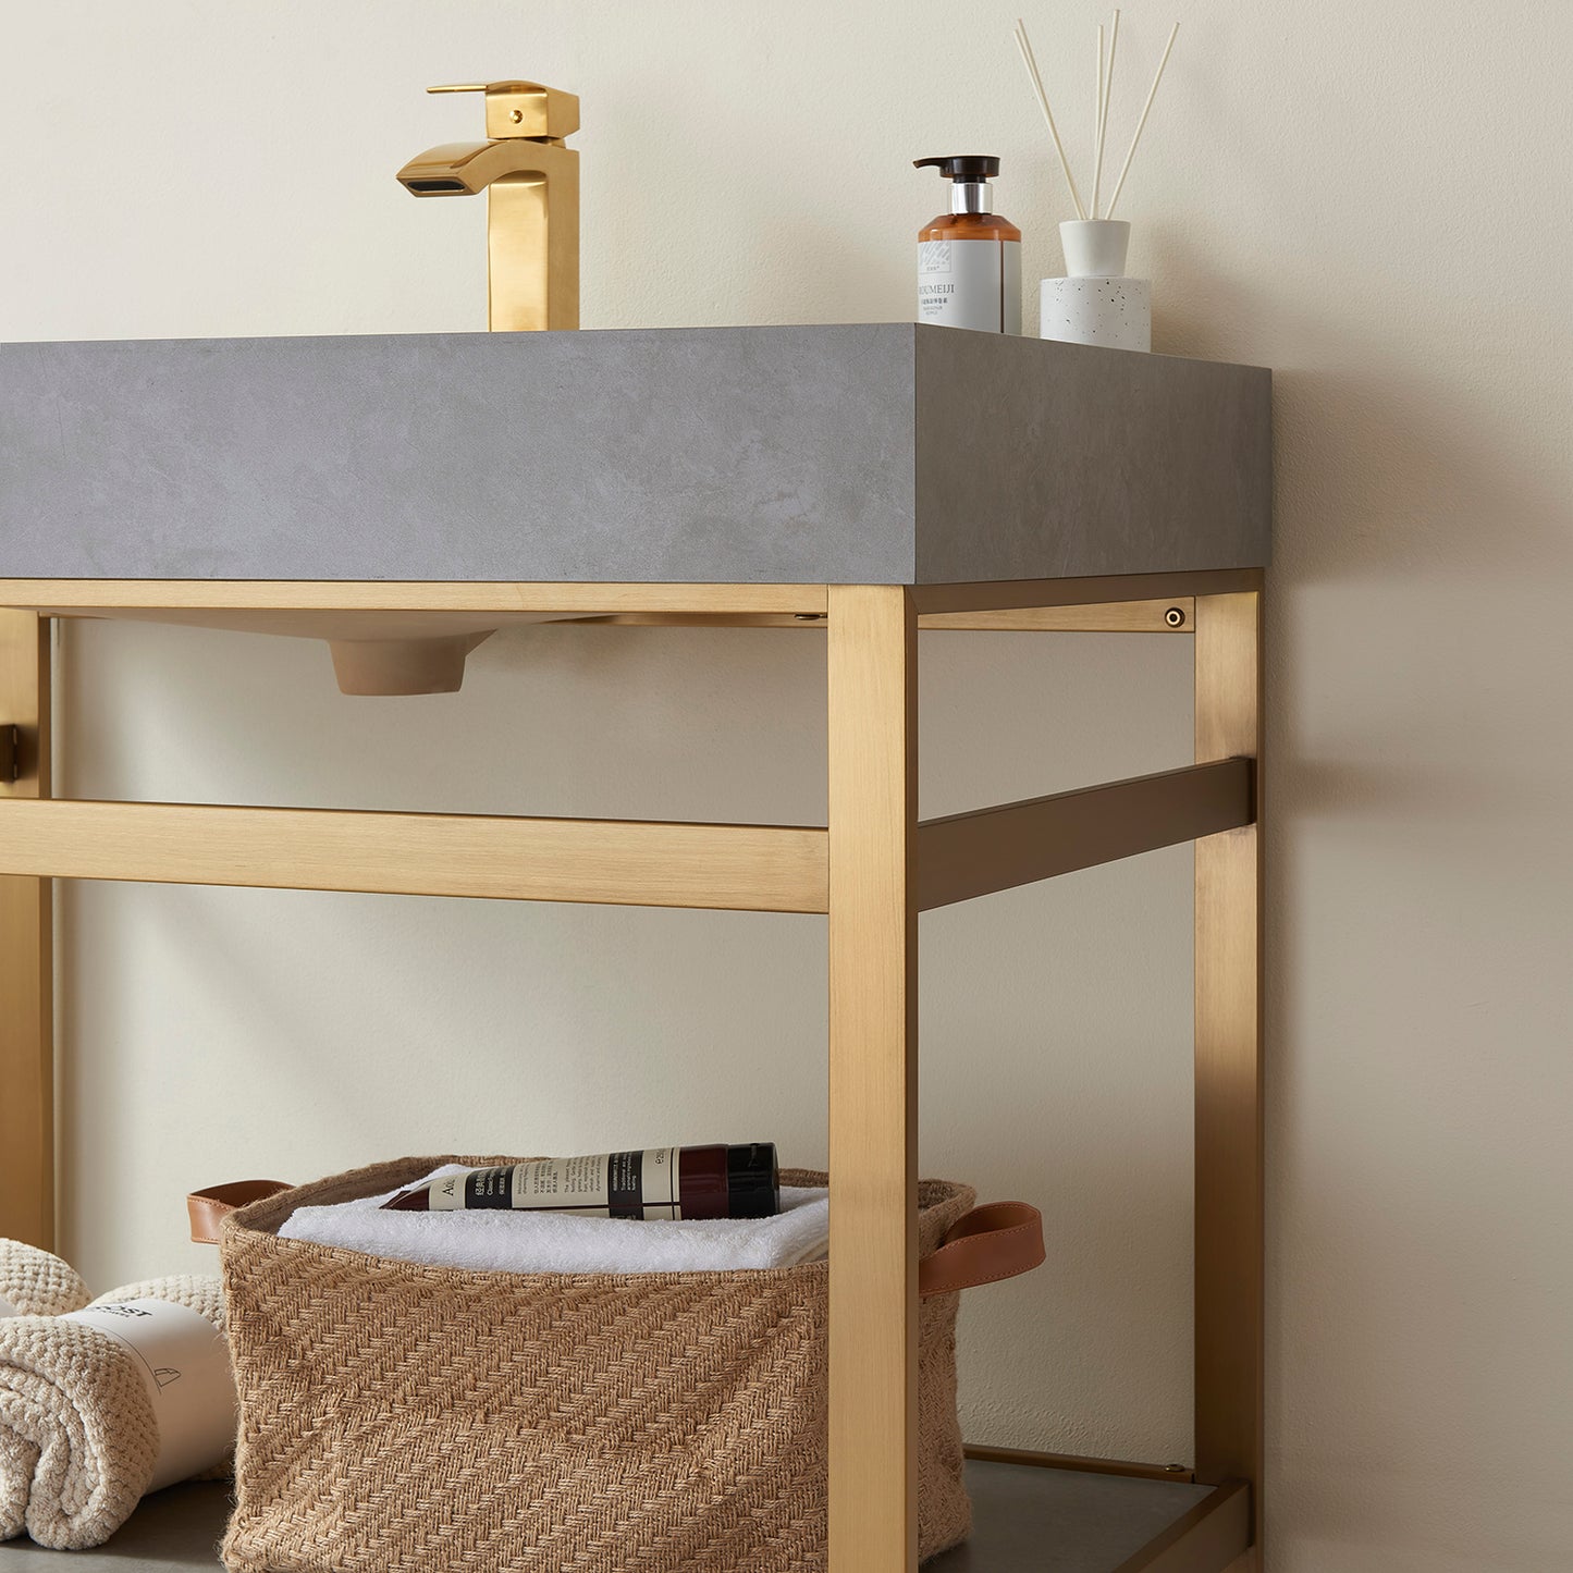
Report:
[{"label": "rear gold leg at right, nearest the wall, darkening downward", "polygon": [[1249,1480],[1262,1557],[1262,598],[1197,596],[1195,757],[1254,757],[1257,823],[1195,843],[1195,1469]]}]

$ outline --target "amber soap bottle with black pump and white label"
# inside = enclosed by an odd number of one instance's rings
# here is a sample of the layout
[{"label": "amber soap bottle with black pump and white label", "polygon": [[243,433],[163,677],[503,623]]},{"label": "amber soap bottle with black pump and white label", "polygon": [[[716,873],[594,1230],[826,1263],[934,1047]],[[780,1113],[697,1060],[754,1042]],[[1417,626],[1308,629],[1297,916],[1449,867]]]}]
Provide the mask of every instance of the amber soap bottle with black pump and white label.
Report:
[{"label": "amber soap bottle with black pump and white label", "polygon": [[950,179],[950,212],[917,234],[917,319],[985,333],[1021,332],[1021,230],[989,211],[988,176],[999,159],[980,153],[914,159]]}]

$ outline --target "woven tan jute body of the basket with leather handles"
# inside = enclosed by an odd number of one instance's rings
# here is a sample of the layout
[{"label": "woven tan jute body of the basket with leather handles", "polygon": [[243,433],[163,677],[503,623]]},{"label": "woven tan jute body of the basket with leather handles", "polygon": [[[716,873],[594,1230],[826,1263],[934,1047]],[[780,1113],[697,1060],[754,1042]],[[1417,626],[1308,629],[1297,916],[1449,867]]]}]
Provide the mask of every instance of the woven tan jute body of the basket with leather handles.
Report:
[{"label": "woven tan jute body of the basket with leather handles", "polygon": [[[823,1573],[827,1266],[466,1273],[278,1225],[406,1184],[409,1158],[222,1229],[241,1392],[236,1573]],[[790,1170],[786,1184],[824,1184]],[[919,1189],[934,1251],[972,1206]],[[963,1540],[958,1295],[920,1313],[920,1554]]]}]

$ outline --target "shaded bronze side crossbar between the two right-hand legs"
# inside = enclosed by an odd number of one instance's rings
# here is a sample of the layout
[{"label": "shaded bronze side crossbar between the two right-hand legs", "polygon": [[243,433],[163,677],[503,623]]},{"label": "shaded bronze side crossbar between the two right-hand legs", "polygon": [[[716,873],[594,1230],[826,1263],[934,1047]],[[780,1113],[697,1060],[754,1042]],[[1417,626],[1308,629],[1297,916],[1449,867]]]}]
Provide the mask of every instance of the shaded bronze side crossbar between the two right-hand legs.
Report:
[{"label": "shaded bronze side crossbar between the two right-hand legs", "polygon": [[971,901],[1254,818],[1255,768],[1235,758],[925,820],[917,827],[917,904],[926,912]]}]

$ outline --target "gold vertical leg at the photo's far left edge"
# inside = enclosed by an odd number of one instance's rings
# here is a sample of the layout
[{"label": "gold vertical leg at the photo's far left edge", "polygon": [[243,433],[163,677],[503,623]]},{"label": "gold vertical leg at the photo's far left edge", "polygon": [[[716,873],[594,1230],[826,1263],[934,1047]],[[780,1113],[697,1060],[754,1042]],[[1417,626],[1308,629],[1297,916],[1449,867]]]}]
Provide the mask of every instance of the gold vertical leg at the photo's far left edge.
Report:
[{"label": "gold vertical leg at the photo's far left edge", "polygon": [[[49,796],[49,620],[0,612],[0,725],[17,779],[0,798]],[[53,915],[47,879],[0,878],[0,1235],[55,1243]]]}]

